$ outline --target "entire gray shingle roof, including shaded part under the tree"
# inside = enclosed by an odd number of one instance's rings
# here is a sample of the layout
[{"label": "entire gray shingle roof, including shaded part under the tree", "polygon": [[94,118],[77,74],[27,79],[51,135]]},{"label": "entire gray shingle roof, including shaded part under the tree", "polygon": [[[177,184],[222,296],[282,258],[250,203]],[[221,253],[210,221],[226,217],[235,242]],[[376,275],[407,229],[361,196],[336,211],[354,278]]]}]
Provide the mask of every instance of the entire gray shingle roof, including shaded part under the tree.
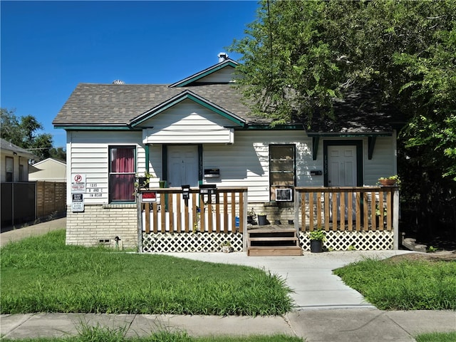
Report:
[{"label": "entire gray shingle roof, including shaded part under the tree", "polygon": [[[210,84],[170,88],[154,84],[80,83],[63,105],[53,125],[56,126],[120,126],[174,96],[190,90],[204,100],[239,116],[250,125],[268,124],[270,120],[252,115],[243,104],[242,94],[231,84]],[[314,115],[309,133],[381,133],[392,132],[391,123],[398,114],[387,105],[375,103],[369,92],[348,94],[334,103],[335,120]],[[296,124],[296,123],[295,123]],[[298,123],[300,124],[300,123]],[[302,122],[308,127],[308,122]]]}]

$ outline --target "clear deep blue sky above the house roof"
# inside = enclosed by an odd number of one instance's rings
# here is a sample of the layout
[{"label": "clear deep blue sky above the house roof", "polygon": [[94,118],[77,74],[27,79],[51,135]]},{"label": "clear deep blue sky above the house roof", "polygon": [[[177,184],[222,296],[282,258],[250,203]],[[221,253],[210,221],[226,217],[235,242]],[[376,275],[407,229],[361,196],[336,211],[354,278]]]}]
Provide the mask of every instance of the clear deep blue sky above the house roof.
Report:
[{"label": "clear deep blue sky above the house roof", "polygon": [[[78,83],[174,83],[217,63],[257,1],[0,1],[1,108],[52,120]],[[230,54],[238,60],[239,55]]]}]

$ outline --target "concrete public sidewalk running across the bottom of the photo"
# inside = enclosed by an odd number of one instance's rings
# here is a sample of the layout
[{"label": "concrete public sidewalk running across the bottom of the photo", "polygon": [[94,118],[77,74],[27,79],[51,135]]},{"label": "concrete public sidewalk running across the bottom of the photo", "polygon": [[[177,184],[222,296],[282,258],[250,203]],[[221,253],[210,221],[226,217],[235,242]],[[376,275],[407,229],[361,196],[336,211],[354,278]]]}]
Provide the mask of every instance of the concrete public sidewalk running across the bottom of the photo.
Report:
[{"label": "concrete public sidewalk running across the bottom of the photo", "polygon": [[410,342],[418,333],[456,331],[453,311],[307,309],[285,316],[171,316],[126,314],[1,315],[1,336],[19,339],[62,337],[82,325],[122,329],[125,336],[186,331],[190,336],[247,336],[282,333],[306,342]]}]

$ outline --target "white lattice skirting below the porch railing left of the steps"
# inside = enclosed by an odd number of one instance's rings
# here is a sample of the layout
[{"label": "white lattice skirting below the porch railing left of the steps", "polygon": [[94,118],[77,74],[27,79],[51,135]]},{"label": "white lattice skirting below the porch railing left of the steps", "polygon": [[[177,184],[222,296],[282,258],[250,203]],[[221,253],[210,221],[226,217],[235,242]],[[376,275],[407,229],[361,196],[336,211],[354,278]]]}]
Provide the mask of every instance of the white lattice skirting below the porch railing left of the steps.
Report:
[{"label": "white lattice skirting below the porch railing left of the steps", "polygon": [[142,233],[142,252],[220,252],[229,242],[234,252],[242,252],[241,233]]}]

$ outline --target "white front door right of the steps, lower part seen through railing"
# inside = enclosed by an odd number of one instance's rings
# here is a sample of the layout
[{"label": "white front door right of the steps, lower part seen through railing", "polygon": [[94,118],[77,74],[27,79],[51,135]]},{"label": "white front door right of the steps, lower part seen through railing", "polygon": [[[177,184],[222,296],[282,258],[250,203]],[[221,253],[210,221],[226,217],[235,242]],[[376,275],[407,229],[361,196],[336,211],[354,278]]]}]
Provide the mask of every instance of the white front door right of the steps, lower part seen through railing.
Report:
[{"label": "white front door right of the steps, lower part seen through railing", "polygon": [[[357,183],[356,146],[355,145],[329,145],[328,146],[328,186],[330,187],[356,187]],[[331,194],[333,195],[333,194]],[[348,195],[345,195],[345,217],[348,219]],[[330,201],[332,206],[332,200]],[[337,198],[337,220],[341,220],[341,198]],[[352,197],[351,217],[356,219],[356,196]],[[332,208],[331,208],[332,220]]]}]

